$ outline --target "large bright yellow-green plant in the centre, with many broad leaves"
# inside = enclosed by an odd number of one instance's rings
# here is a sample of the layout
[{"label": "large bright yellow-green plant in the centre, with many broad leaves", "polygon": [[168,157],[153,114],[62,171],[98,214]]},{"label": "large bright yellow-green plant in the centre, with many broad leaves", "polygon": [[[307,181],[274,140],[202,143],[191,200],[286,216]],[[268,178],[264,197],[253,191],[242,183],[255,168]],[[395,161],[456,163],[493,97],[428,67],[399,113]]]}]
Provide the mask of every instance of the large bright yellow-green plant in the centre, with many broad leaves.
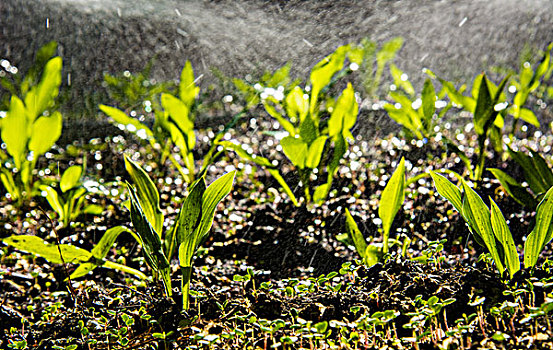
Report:
[{"label": "large bright yellow-green plant in the centre, with many broad leaves", "polygon": [[[286,157],[296,167],[303,186],[306,203],[323,202],[332,186],[333,178],[338,170],[341,158],[347,150],[347,139],[352,139],[351,128],[355,124],[358,104],[351,84],[342,91],[339,98],[326,96],[326,91],[336,77],[344,70],[346,58],[353,62],[359,61],[359,48],[350,45],[339,47],[333,54],[327,56],[311,70],[311,89],[306,91],[299,86],[293,88],[280,101],[274,96],[263,100],[265,110],[283,127],[287,136],[280,140],[280,145]],[[326,110],[322,110],[322,105]],[[322,117],[329,115],[328,120]],[[250,155],[243,151],[242,146],[232,142],[221,142],[225,148],[237,152],[240,156],[268,170],[295,205],[299,201],[294,196],[290,186],[284,181],[276,166],[267,158]],[[315,170],[316,169],[316,170]],[[313,175],[326,171],[326,182],[322,185],[313,184]]]}]

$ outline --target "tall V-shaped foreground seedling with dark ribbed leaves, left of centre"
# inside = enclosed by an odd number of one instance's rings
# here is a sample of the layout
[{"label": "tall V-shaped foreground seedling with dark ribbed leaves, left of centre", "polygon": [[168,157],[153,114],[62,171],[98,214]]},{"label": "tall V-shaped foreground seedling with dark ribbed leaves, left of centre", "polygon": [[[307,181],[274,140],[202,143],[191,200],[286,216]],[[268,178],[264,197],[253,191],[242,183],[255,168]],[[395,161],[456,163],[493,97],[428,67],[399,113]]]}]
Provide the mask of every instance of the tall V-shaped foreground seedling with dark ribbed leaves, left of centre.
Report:
[{"label": "tall V-shaped foreground seedling with dark ribbed leaves, left of centre", "polygon": [[170,262],[178,251],[183,309],[187,310],[192,258],[207,238],[217,205],[232,189],[235,172],[221,176],[209,187],[206,187],[203,177],[196,180],[182,203],[175,224],[164,234],[164,217],[153,181],[138,164],[126,157],[125,166],[134,183],[128,184],[131,221],[136,233],[134,237],[142,245],[154,277],[162,280],[167,296],[172,295]]}]

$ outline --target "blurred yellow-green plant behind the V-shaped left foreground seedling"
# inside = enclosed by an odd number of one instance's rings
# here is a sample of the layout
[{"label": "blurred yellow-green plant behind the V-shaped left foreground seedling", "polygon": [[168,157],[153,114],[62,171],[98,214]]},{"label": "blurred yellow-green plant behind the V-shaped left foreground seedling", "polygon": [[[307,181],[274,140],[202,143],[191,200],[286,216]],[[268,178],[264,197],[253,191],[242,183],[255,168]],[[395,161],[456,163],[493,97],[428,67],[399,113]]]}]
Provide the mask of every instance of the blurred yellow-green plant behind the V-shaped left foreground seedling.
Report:
[{"label": "blurred yellow-green plant behind the V-shaped left foreground seedling", "polygon": [[[189,61],[186,62],[179,83],[179,97],[169,93],[161,94],[161,108],[156,108],[155,121],[152,128],[125,112],[106,105],[100,105],[100,110],[113,121],[123,125],[139,138],[147,140],[153,149],[160,150],[161,163],[169,160],[176,166],[184,180],[192,183],[195,177],[194,155],[192,150],[196,145],[194,131],[194,114],[192,109],[200,88],[195,85],[194,72]],[[170,142],[167,142],[167,141]],[[184,168],[179,165],[172,154],[172,147],[179,148]],[[204,159],[208,161],[208,158]],[[204,163],[208,164],[208,163]]]}]

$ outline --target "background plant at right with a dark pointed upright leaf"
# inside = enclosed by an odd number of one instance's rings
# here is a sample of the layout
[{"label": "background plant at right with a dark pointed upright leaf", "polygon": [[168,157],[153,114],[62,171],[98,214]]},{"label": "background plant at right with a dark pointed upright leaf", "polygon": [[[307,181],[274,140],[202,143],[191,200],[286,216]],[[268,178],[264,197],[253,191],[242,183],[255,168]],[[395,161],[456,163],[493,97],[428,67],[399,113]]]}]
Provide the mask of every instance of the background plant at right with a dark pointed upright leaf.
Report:
[{"label": "background plant at right with a dark pointed upright leaf", "polygon": [[[426,72],[431,77],[436,77],[431,71],[426,70]],[[505,101],[503,89],[508,80],[509,77],[507,76],[496,86],[488,80],[484,73],[479,74],[473,81],[471,95],[465,96],[463,94],[466,89],[465,85],[457,90],[453,83],[439,79],[442,83],[443,90],[447,93],[451,102],[472,113],[474,130],[478,136],[478,157],[476,165],[473,166],[471,164],[469,157],[457,147],[455,142],[448,139],[445,139],[445,141],[447,146],[452,148],[463,160],[470,173],[470,178],[473,181],[480,181],[484,173],[487,148],[486,141],[489,140],[496,150],[502,150],[503,140],[501,137],[501,130],[503,129],[504,118],[501,113],[505,108],[502,103]]]}]

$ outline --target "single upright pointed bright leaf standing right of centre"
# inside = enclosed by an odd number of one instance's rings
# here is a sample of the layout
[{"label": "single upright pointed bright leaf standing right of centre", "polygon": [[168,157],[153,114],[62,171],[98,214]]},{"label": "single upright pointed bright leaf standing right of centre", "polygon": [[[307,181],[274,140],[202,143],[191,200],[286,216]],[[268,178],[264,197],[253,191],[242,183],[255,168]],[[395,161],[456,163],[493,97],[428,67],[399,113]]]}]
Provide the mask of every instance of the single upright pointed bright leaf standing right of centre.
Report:
[{"label": "single upright pointed bright leaf standing right of centre", "polygon": [[405,159],[402,157],[394,174],[386,184],[380,197],[378,216],[382,220],[384,229],[384,248],[382,252],[388,253],[388,238],[394,218],[405,200]]}]

